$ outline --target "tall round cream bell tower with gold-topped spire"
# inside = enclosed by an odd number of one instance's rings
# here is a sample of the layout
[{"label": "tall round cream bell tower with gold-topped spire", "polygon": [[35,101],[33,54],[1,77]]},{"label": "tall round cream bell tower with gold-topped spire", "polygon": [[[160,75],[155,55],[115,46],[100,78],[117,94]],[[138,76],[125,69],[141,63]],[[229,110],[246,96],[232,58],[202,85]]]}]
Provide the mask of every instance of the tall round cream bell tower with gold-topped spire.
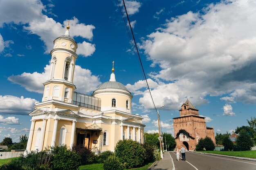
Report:
[{"label": "tall round cream bell tower with gold-topped spire", "polygon": [[54,40],[54,48],[50,52],[51,69],[48,80],[43,83],[45,86],[42,102],[48,100],[59,100],[72,102],[72,94],[76,89],[73,84],[74,69],[77,59],[77,43],[70,36],[69,22],[64,35]]}]

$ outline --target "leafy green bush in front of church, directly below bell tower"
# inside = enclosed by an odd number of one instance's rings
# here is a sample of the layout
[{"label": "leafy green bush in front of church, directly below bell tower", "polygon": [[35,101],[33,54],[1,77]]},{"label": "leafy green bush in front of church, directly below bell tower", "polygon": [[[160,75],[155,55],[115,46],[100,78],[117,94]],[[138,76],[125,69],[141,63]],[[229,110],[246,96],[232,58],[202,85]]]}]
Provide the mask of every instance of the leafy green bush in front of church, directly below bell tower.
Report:
[{"label": "leafy green bush in front of church, directly below bell tower", "polygon": [[74,150],[69,150],[66,145],[52,147],[54,170],[78,170],[81,157]]}]

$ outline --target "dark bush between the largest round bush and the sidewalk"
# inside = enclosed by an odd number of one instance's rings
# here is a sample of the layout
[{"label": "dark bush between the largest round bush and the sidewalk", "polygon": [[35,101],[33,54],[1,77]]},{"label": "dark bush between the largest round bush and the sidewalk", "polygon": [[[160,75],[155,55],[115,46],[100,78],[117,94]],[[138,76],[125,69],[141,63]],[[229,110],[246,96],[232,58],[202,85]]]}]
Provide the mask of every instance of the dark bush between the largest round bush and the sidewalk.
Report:
[{"label": "dark bush between the largest round bush and the sidewalk", "polygon": [[144,143],[142,144],[145,149],[145,160],[144,163],[153,162],[160,158],[159,152],[157,151],[157,147],[152,143]]}]

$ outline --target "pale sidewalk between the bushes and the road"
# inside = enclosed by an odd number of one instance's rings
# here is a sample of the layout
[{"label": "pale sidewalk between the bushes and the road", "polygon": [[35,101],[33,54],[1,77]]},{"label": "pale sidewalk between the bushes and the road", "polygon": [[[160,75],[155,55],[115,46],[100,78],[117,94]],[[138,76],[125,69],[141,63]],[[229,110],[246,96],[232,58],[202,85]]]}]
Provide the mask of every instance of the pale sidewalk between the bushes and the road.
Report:
[{"label": "pale sidewalk between the bushes and the road", "polygon": [[164,153],[163,159],[155,161],[155,163],[153,163],[153,165],[150,166],[148,170],[173,170],[173,161],[169,151]]}]

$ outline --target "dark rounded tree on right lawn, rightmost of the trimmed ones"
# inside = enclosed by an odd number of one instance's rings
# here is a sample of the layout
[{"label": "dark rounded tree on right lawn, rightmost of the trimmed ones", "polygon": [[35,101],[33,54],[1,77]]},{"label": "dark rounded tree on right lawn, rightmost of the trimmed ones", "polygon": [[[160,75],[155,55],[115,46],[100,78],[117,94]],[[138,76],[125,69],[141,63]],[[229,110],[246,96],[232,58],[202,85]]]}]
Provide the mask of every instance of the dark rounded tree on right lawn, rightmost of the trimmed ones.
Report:
[{"label": "dark rounded tree on right lawn, rightmost of the trimmed ones", "polygon": [[254,146],[254,141],[246,131],[242,130],[238,137],[236,137],[236,145],[239,146],[241,150],[251,150]]}]

